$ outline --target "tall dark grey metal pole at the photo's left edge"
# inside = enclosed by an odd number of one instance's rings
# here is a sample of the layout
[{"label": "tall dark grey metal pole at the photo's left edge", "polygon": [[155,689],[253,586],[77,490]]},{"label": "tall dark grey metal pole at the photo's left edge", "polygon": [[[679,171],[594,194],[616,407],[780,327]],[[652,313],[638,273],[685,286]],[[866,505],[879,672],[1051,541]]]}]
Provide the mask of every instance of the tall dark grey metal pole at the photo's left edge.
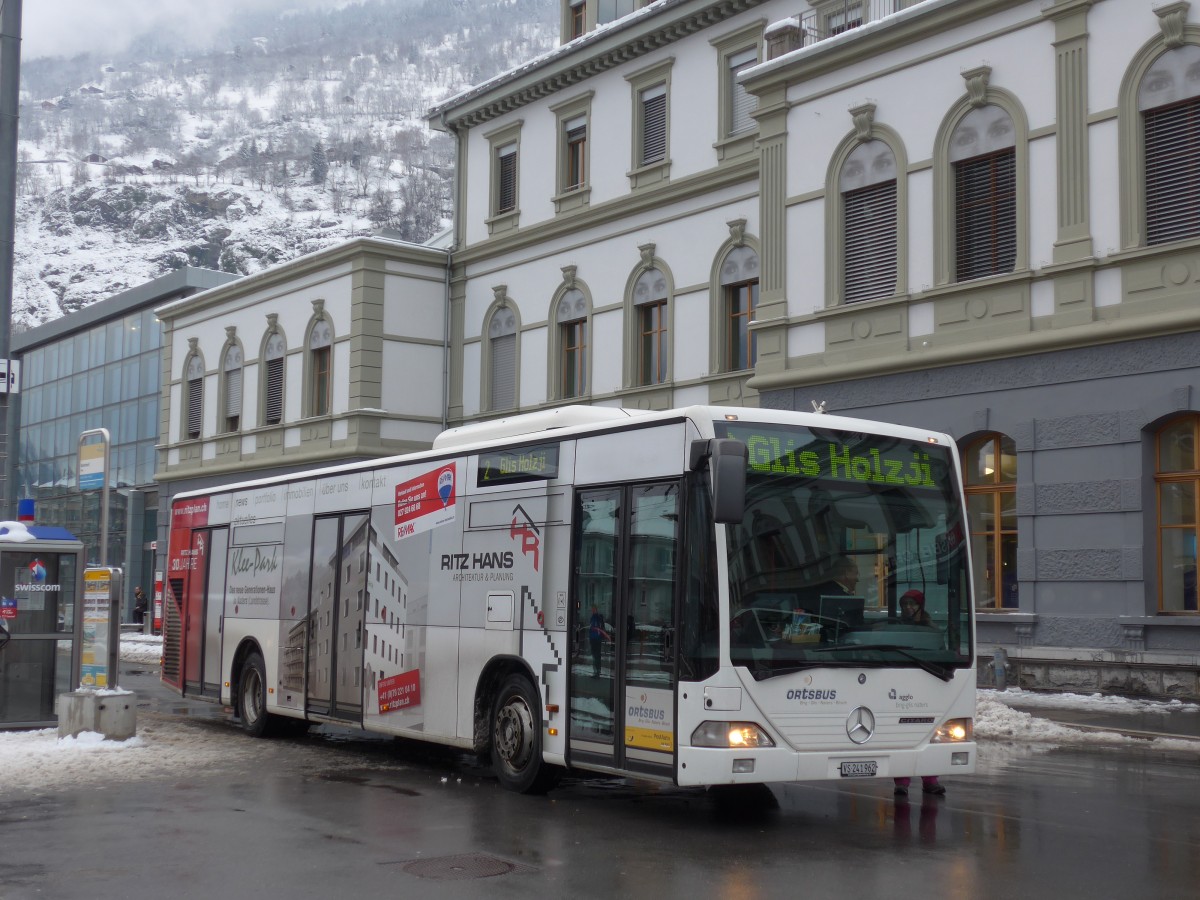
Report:
[{"label": "tall dark grey metal pole at the photo's left edge", "polygon": [[[12,260],[17,230],[20,0],[0,0],[0,360],[12,344]],[[17,517],[16,396],[0,394],[0,518]]]}]

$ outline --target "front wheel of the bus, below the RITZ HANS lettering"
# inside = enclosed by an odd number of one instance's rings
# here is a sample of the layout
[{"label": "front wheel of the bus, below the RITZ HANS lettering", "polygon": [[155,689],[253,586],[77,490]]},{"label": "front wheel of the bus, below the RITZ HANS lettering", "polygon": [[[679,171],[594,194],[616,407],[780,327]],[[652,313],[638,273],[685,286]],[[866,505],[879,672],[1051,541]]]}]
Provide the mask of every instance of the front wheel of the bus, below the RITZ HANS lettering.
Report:
[{"label": "front wheel of the bus, below the RITZ HANS lettering", "polygon": [[559,772],[541,758],[538,691],[524,676],[509,676],[492,708],[492,768],[500,785],[517,793],[546,793]]}]

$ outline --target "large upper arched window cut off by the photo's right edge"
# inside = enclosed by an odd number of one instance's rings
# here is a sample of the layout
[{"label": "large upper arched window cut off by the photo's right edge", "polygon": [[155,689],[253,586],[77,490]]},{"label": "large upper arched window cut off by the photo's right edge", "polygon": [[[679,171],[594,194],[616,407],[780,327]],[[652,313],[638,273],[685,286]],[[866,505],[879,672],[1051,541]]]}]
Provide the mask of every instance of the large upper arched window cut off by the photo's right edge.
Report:
[{"label": "large upper arched window cut off by the photo's right edge", "polygon": [[1146,242],[1200,234],[1200,46],[1168,50],[1138,84]]}]

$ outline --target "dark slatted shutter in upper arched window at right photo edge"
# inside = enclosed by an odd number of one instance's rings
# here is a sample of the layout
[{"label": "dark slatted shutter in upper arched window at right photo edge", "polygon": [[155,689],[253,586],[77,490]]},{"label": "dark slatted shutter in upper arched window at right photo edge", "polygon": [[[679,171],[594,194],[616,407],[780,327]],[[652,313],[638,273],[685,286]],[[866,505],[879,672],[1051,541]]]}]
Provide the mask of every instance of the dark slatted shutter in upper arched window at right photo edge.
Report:
[{"label": "dark slatted shutter in upper arched window at right photo edge", "polygon": [[1150,109],[1146,134],[1146,242],[1200,234],[1200,100]]}]

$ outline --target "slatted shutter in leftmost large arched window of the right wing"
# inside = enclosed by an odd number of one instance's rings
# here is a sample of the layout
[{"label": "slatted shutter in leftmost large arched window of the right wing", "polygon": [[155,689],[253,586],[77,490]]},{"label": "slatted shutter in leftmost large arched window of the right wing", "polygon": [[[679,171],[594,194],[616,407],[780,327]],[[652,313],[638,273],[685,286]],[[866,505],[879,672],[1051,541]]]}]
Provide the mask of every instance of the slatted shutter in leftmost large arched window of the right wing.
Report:
[{"label": "slatted shutter in leftmost large arched window of the right wing", "polygon": [[892,296],[896,286],[896,182],[842,194],[842,301]]}]

